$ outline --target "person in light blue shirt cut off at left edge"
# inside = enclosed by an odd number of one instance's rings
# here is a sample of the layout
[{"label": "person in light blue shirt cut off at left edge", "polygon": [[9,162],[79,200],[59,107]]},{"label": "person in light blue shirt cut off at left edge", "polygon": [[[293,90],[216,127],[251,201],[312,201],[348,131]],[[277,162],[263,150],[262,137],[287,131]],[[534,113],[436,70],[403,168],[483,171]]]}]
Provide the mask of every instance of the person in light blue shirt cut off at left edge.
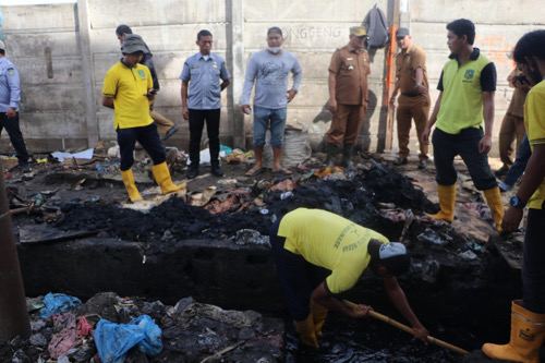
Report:
[{"label": "person in light blue shirt cut off at left edge", "polygon": [[0,40],[0,133],[3,129],[10,135],[11,144],[17,153],[19,166],[29,172],[28,152],[19,126],[19,102],[21,87],[17,68],[5,58],[5,44]]}]

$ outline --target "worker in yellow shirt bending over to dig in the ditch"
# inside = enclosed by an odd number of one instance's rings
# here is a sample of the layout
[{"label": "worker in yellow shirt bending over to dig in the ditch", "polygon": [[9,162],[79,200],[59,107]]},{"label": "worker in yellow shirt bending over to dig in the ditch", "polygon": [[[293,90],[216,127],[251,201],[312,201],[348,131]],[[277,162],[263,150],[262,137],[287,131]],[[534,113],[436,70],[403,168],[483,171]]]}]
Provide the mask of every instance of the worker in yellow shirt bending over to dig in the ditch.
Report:
[{"label": "worker in yellow shirt bending over to dig in the ditch", "polygon": [[[383,278],[386,293],[424,342],[428,331],[411,310],[397,275],[409,269],[405,246],[380,233],[322,209],[299,208],[279,218],[270,229],[278,280],[303,343],[318,347],[329,310],[354,318],[371,306],[351,310],[336,295],[351,289],[371,267]],[[324,270],[330,273],[324,279]]]}]

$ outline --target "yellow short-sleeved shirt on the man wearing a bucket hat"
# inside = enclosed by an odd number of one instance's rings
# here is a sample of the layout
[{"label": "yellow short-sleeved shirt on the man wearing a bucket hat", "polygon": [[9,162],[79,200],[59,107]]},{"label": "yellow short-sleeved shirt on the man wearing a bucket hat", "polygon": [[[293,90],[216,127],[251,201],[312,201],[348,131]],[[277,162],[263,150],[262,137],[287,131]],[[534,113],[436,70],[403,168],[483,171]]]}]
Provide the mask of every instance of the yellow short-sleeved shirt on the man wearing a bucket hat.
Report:
[{"label": "yellow short-sleeved shirt on the man wearing a bucket hat", "polygon": [[113,65],[104,80],[102,95],[113,98],[113,128],[147,126],[149,116],[147,90],[154,87],[149,69],[142,64],[128,68],[122,62]]}]

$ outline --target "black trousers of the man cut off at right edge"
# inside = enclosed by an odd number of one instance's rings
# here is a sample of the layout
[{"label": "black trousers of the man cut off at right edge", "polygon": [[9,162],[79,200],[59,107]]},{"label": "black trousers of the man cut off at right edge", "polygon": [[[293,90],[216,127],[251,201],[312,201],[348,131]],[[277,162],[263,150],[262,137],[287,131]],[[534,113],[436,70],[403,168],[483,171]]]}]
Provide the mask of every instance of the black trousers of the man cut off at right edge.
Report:
[{"label": "black trousers of the man cut off at right edge", "polygon": [[530,208],[522,259],[522,305],[535,314],[545,314],[545,203]]}]

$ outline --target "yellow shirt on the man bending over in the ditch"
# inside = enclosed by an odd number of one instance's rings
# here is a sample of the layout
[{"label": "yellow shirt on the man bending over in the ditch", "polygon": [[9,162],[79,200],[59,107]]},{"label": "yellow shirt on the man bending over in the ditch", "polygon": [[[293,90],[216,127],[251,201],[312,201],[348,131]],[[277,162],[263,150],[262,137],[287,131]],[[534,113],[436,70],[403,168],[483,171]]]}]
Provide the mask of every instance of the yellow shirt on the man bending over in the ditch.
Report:
[{"label": "yellow shirt on the man bending over in the ditch", "polygon": [[331,293],[352,288],[367,267],[371,239],[388,239],[336,214],[299,208],[280,221],[278,235],[286,238],[284,249],[302,255],[308,263],[331,270],[326,279]]}]

